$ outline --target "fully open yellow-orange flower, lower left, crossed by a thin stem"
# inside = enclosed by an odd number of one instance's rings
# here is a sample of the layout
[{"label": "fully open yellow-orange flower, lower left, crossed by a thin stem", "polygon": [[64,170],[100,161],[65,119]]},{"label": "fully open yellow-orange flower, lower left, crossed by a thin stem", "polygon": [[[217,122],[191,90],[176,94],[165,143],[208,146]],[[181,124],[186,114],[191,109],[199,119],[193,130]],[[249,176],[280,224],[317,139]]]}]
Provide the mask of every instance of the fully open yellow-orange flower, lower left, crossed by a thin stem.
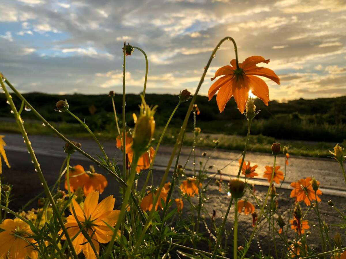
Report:
[{"label": "fully open yellow-orange flower, lower left, crossed by a thin stem", "polygon": [[[78,217],[78,220],[84,227],[85,231],[89,234],[96,251],[99,253],[99,242],[108,243],[112,238],[113,230],[110,229],[107,224],[112,227],[117,224],[120,210],[113,210],[115,203],[115,198],[113,198],[113,195],[109,195],[100,203],[98,203],[98,201],[99,193],[97,191],[91,192],[88,196],[86,196],[83,209],[74,199],[72,199],[76,216]],[[72,213],[72,208],[70,208],[70,210]],[[80,231],[77,220],[73,214],[67,217],[65,227],[67,228],[67,232],[69,233],[70,237],[74,237],[77,232]],[[60,230],[60,233],[62,233],[62,230]],[[120,231],[118,231],[118,233],[120,236]],[[62,237],[62,239],[66,239],[65,235]],[[72,244],[77,254],[83,250],[85,258],[96,258],[90,243],[87,242],[82,232],[80,232],[72,241]]]}]

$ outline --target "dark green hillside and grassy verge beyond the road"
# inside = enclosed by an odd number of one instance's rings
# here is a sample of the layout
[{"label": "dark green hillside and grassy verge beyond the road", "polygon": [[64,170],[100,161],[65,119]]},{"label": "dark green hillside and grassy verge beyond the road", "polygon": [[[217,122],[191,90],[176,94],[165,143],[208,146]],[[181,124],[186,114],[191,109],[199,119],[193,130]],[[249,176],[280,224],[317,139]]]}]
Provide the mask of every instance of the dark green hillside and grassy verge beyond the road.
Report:
[{"label": "dark green hillside and grassy verge beyond the road", "polygon": [[[61,99],[67,99],[70,110],[85,118],[93,132],[103,138],[115,138],[117,136],[114,115],[110,98],[108,95],[48,95],[42,93],[28,93],[24,97],[37,108],[37,111],[61,133],[70,137],[89,136],[85,129],[71,116],[55,111],[55,103]],[[133,127],[132,114],[138,112],[140,98],[138,95],[128,94],[126,96],[127,124]],[[158,127],[156,139],[162,130],[166,119],[171,114],[178,102],[178,97],[173,95],[146,95],[148,104],[158,104],[155,121]],[[17,107],[20,106],[19,99],[13,96]],[[105,105],[109,103],[109,105]],[[270,145],[280,140],[283,145],[290,146],[290,154],[303,156],[329,156],[328,148],[333,144],[342,143],[346,145],[346,115],[342,111],[346,103],[346,97],[320,98],[314,100],[292,100],[287,103],[272,101],[265,106],[261,100],[255,100],[257,109],[261,112],[253,121],[251,132],[250,151],[269,152]],[[117,111],[121,111],[121,95],[115,96]],[[197,126],[201,127],[203,134],[198,136],[197,146],[213,147],[213,140],[219,140],[219,148],[229,150],[243,150],[246,135],[246,119],[236,109],[232,99],[225,112],[219,113],[216,100],[213,98],[208,102],[205,96],[198,96],[197,104],[201,114],[197,116]],[[179,131],[185,115],[187,103],[183,103],[172,119],[172,127],[167,132],[163,144],[173,144],[175,136]],[[52,132],[35,121],[30,112],[23,111],[22,117],[26,122],[28,133],[52,134]],[[0,117],[11,117],[10,107],[6,104],[3,94],[0,95]],[[119,117],[119,116],[118,116]],[[121,118],[119,117],[121,125]],[[8,120],[0,122],[2,132],[18,132],[16,124]],[[188,125],[192,131],[192,117]],[[313,141],[313,142],[311,142]],[[185,144],[192,143],[192,136],[185,138]]]}]

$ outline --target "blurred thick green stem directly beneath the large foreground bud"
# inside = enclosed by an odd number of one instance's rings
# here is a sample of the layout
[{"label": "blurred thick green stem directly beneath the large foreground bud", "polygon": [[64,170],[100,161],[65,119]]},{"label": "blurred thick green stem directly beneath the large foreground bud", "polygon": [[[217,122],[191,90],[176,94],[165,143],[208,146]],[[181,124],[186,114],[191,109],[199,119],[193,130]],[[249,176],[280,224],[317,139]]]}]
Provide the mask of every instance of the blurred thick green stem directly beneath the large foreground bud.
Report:
[{"label": "blurred thick green stem directly beneath the large foreground bud", "polygon": [[117,224],[113,230],[113,235],[112,235],[111,241],[108,244],[104,259],[107,259],[109,257],[111,250],[113,249],[114,241],[115,241],[115,238],[118,234],[118,230],[120,228],[121,222],[124,220],[126,207],[127,207],[127,204],[128,204],[129,198],[130,198],[130,194],[131,194],[131,188],[132,188],[132,185],[133,185],[134,180],[135,180],[136,167],[137,167],[139,157],[140,157],[140,154],[134,153],[132,165],[131,165],[131,172],[130,172],[130,176],[127,180],[127,188],[126,188],[124,200],[122,201],[121,210],[120,210],[120,214],[118,217],[118,222],[117,222]]}]

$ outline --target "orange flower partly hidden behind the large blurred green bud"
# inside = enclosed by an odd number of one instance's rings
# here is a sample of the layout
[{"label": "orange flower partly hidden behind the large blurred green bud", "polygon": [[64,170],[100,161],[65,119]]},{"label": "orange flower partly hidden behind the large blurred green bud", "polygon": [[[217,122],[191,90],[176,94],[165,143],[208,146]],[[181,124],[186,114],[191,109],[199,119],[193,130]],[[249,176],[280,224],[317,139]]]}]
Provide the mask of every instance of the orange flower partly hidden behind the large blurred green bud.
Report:
[{"label": "orange flower partly hidden behind the large blurred green bud", "polygon": [[[126,141],[126,153],[128,156],[129,163],[131,164],[133,159],[133,150],[131,148],[133,143],[133,138],[129,133],[126,134],[125,141]],[[122,150],[122,135],[117,136],[117,148]],[[149,154],[150,154],[150,158],[149,158]],[[139,157],[137,167],[136,167],[137,173],[139,173],[141,170],[145,170],[150,167],[150,164],[153,161],[154,154],[155,154],[155,149],[153,147],[149,147],[149,152],[144,152],[143,155]]]}]

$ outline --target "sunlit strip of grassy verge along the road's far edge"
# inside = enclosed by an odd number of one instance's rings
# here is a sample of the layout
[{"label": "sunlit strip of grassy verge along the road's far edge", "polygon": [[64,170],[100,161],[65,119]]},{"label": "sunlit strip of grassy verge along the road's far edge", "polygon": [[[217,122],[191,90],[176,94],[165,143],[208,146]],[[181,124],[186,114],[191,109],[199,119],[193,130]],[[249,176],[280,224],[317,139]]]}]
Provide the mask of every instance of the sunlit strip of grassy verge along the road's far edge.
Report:
[{"label": "sunlit strip of grassy verge along the road's far edge", "polygon": [[[53,135],[52,131],[49,128],[44,127],[41,123],[36,121],[28,121],[25,123],[28,134],[38,134],[38,135]],[[85,129],[79,124],[71,123],[59,123],[54,124],[53,126],[69,137],[90,137],[90,135],[85,132]],[[158,140],[160,137],[162,128],[158,128],[156,131],[155,139]],[[15,123],[12,122],[0,122],[0,131],[2,133],[11,132],[19,133],[18,127]],[[166,136],[163,139],[164,145],[172,145],[175,143],[175,137],[177,136],[177,129],[170,129]],[[117,136],[116,130],[109,128],[101,132],[95,132],[95,135],[102,138],[114,139]],[[192,145],[192,134],[187,133],[184,145]],[[197,146],[198,147],[214,147],[215,142],[218,141],[218,148],[226,150],[243,150],[245,137],[238,135],[223,135],[223,134],[204,134],[201,133],[197,136]],[[291,155],[299,156],[312,156],[312,157],[329,157],[330,153],[328,149],[331,149],[335,143],[327,142],[307,142],[307,141],[295,141],[295,140],[276,140],[273,137],[267,137],[263,135],[251,135],[250,144],[248,147],[249,151],[253,152],[263,152],[270,153],[271,145],[273,142],[281,142],[282,146],[289,146],[289,153]],[[154,142],[155,144],[155,142]],[[343,144],[346,146],[344,141]]]}]

